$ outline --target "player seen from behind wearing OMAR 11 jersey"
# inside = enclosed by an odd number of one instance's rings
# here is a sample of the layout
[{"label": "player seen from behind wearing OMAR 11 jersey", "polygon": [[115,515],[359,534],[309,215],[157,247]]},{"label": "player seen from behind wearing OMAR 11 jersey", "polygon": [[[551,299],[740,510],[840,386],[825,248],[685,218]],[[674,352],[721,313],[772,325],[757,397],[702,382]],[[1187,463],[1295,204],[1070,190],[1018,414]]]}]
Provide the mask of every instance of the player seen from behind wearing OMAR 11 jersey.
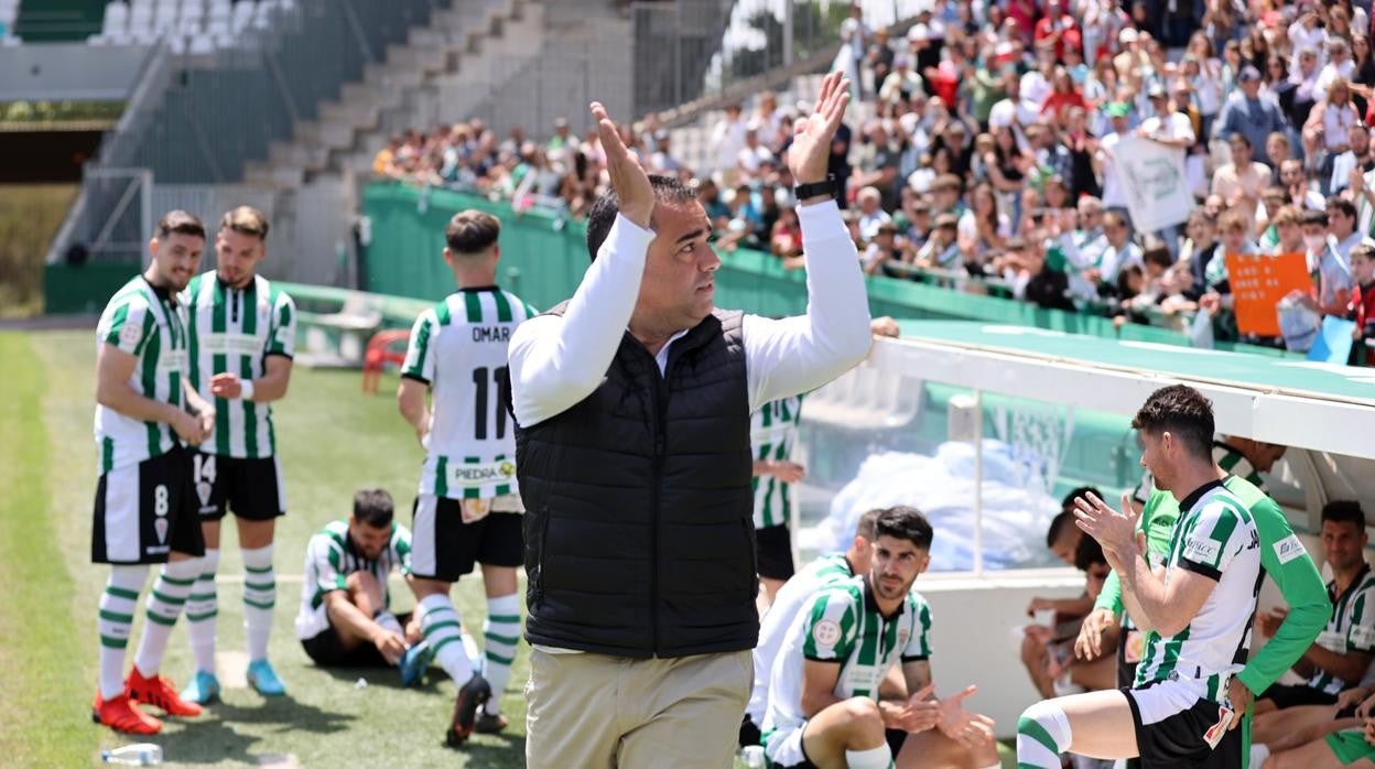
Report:
[{"label": "player seen from behind wearing OMAR 11 jersey", "polygon": [[[496,288],[499,234],[500,221],[478,210],[455,215],[444,228],[444,261],[458,292],[415,321],[396,395],[426,450],[411,553],[411,589],[425,634],[425,647],[415,653],[433,653],[459,686],[446,736],[451,747],[474,729],[506,728],[500,696],[520,642],[516,567],[525,557],[524,508],[516,487],[514,429],[498,389],[506,381],[506,343],[535,310]],[[480,673],[465,653],[458,611],[448,597],[474,563],[481,564],[487,587]]]}]

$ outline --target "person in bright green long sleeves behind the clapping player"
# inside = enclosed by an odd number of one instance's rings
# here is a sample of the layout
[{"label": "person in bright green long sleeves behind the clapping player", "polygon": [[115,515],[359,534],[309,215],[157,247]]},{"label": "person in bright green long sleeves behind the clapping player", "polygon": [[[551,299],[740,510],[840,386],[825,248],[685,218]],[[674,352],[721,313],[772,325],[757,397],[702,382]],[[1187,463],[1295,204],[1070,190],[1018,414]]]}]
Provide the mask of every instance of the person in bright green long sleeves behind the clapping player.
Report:
[{"label": "person in bright green long sleeves behind the clapping player", "polygon": [[[1233,443],[1243,446],[1246,453],[1235,448]],[[1261,567],[1270,575],[1290,605],[1283,623],[1273,620],[1270,642],[1248,659],[1246,667],[1232,678],[1231,699],[1235,706],[1246,708],[1244,726],[1251,722],[1253,708],[1247,706],[1251,704],[1255,692],[1265,692],[1294,664],[1321,631],[1323,623],[1331,614],[1331,601],[1323,590],[1323,578],[1319,576],[1317,567],[1294,535],[1284,512],[1255,483],[1261,480],[1255,466],[1269,470],[1273,461],[1283,454],[1283,448],[1235,437],[1220,437],[1213,443],[1214,473],[1250,510],[1261,538]],[[1255,457],[1255,465],[1247,457]],[[1244,476],[1233,475],[1236,472]],[[1150,553],[1163,557],[1178,517],[1180,506],[1170,492],[1162,490],[1151,492],[1140,519],[1140,530],[1145,534]],[[1129,616],[1123,615],[1123,609],[1121,581],[1116,574],[1111,574],[1099,594],[1094,611],[1085,619],[1075,649],[1085,659],[1099,656],[1103,649],[1103,633],[1119,625],[1122,638],[1118,642],[1118,684],[1129,686],[1136,678],[1136,664],[1141,659],[1144,647],[1141,631],[1132,625]],[[1119,616],[1121,623],[1118,623]],[[1244,739],[1243,733],[1243,741]],[[1250,755],[1251,751],[1247,750],[1243,758],[1250,759]]]}]

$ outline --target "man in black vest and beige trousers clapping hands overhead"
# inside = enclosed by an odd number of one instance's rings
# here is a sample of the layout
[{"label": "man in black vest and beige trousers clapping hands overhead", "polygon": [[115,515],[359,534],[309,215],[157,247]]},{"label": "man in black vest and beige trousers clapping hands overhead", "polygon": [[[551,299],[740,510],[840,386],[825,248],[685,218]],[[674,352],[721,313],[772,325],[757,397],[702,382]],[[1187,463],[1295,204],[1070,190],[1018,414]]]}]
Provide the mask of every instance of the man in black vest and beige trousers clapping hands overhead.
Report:
[{"label": "man in black vest and beige trousers clapping hands overhead", "polygon": [[749,413],[869,349],[826,176],[848,99],[828,76],[789,150],[808,305],[781,321],[715,310],[701,204],[591,105],[613,186],[588,216],[593,264],[510,341],[532,768],[730,763],[759,634]]}]

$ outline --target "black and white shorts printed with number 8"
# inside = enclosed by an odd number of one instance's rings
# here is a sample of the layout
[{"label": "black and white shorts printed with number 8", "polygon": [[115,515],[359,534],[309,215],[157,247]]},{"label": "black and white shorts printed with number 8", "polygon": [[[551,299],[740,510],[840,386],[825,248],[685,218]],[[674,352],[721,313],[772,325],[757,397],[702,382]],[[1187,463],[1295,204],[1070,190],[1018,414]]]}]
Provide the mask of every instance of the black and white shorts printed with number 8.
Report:
[{"label": "black and white shorts printed with number 8", "polygon": [[205,554],[195,515],[190,453],[180,446],[100,476],[91,523],[91,561],[162,564],[168,553]]}]

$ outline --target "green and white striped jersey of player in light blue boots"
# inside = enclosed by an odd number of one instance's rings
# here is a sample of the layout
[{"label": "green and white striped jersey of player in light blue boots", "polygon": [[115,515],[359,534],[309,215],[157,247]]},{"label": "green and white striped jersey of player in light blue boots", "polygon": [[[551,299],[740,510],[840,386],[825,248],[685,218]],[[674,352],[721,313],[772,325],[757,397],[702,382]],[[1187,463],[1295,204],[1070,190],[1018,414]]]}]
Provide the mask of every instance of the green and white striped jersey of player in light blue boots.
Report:
[{"label": "green and white striped jersey of player in light blue boots", "polygon": [[270,355],[296,352],[296,304],[267,278],[235,289],[213,271],[191,278],[187,286],[191,321],[191,384],[201,398],[214,403],[214,433],[202,451],[238,459],[257,459],[276,453],[272,406],[241,398],[210,395],[210,377],[238,374],[252,381],[267,371]]}]

